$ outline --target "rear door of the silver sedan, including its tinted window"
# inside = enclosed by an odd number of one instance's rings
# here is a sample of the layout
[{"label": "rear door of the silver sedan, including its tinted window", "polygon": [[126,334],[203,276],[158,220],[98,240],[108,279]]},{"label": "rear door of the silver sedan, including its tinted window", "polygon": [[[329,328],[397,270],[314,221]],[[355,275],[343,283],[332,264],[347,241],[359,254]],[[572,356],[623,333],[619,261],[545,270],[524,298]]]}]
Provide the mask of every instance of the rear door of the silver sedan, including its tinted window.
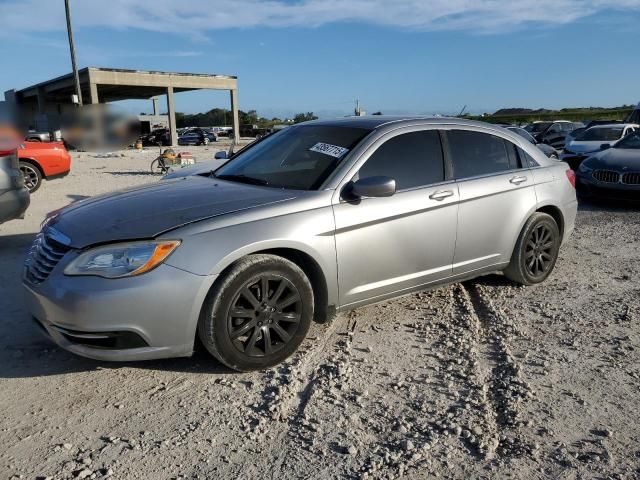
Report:
[{"label": "rear door of the silver sedan, including its tinted window", "polygon": [[453,128],[446,140],[460,192],[453,274],[508,263],[523,220],[536,205],[528,166],[500,136]]}]

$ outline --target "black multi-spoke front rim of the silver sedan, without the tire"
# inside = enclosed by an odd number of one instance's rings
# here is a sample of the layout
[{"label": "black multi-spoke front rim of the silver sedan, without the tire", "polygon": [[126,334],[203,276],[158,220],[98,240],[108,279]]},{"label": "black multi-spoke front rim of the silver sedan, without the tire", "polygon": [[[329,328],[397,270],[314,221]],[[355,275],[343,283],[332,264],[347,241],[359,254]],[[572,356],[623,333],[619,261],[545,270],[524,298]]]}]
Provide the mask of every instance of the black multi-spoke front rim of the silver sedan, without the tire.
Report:
[{"label": "black multi-spoke front rim of the silver sedan, without the tire", "polygon": [[262,274],[236,293],[227,314],[234,347],[249,357],[280,351],[293,338],[302,315],[302,299],[287,278]]}]

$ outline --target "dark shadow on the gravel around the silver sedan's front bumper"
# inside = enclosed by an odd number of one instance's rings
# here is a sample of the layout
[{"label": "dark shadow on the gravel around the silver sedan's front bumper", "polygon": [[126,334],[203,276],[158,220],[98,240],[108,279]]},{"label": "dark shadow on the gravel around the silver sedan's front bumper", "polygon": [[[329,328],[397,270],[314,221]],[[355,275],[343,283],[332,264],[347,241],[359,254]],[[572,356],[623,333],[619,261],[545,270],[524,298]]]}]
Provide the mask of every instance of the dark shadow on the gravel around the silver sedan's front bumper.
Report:
[{"label": "dark shadow on the gravel around the silver sedan's front bumper", "polygon": [[235,374],[196,344],[192,357],[140,362],[102,362],[71,354],[48,339],[27,313],[22,295],[24,258],[35,233],[2,235],[0,230],[0,379],[139,368],[193,374]]}]

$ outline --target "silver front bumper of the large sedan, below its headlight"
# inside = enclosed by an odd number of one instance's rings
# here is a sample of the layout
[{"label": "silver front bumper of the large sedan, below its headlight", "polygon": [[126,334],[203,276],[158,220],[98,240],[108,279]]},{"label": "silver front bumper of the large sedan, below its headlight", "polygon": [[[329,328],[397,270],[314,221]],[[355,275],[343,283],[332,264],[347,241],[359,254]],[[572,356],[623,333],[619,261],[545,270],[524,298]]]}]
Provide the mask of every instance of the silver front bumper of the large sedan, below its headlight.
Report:
[{"label": "silver front bumper of the large sedan, below its headlight", "polygon": [[189,356],[216,276],[161,265],[139,277],[65,276],[62,261],[42,283],[24,281],[26,306],[62,348],[97,360]]}]

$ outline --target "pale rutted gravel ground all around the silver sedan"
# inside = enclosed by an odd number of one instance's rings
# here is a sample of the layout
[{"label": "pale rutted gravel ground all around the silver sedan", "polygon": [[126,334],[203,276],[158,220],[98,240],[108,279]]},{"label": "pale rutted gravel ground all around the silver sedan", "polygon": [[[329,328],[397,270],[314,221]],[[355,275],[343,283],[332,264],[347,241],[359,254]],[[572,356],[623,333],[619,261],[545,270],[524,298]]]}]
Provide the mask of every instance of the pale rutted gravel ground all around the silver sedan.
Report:
[{"label": "pale rutted gravel ground all around the silver sedan", "polygon": [[542,285],[341,314],[265,372],[66,353],[22,307],[25,252],[46,212],[157,181],[156,153],[74,153],[0,226],[0,478],[640,478],[640,210],[581,206]]}]

